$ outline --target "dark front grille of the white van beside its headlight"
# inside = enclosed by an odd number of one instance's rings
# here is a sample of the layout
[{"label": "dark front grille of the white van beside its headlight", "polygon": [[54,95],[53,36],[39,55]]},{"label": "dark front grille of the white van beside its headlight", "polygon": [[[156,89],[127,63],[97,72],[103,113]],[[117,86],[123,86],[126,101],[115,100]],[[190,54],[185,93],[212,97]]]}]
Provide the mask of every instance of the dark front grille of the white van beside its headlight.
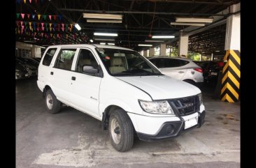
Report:
[{"label": "dark front grille of the white van beside its headlight", "polygon": [[168,101],[174,112],[179,116],[186,116],[198,112],[200,108],[199,96],[177,98]]}]

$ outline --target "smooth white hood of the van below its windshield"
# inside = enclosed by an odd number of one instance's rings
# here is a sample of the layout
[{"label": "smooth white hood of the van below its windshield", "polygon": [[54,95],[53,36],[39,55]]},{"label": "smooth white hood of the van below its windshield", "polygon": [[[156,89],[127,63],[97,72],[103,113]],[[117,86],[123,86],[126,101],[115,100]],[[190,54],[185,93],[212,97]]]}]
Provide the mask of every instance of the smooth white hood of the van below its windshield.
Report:
[{"label": "smooth white hood of the van below its windshield", "polygon": [[201,93],[196,86],[166,75],[117,78],[145,91],[152,100],[184,98]]}]

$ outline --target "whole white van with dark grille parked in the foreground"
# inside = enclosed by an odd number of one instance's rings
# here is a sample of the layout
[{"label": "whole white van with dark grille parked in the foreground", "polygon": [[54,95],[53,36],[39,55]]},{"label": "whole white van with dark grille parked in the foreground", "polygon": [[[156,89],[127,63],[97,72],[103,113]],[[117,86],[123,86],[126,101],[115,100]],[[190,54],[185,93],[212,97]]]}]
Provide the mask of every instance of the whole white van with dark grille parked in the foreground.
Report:
[{"label": "whole white van with dark grille parked in the foreground", "polygon": [[131,49],[108,45],[53,45],[38,67],[50,113],[61,103],[102,121],[111,144],[128,151],[143,141],[177,137],[204,123],[201,91],[163,75]]}]

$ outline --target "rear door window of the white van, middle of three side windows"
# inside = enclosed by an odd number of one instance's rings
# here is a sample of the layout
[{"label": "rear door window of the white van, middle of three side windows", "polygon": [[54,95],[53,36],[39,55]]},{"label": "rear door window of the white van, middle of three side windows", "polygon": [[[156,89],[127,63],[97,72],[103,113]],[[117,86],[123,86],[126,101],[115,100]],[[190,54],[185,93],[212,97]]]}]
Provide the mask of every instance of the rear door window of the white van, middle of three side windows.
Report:
[{"label": "rear door window of the white van, middle of three side windows", "polygon": [[76,49],[61,49],[55,62],[55,68],[71,70],[75,54]]}]

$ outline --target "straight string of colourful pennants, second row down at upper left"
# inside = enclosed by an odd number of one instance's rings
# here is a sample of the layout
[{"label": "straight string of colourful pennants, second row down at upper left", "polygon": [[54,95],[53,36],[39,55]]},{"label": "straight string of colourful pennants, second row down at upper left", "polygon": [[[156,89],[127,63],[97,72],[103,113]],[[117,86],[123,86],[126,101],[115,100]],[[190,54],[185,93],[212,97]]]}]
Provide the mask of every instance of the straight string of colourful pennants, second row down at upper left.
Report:
[{"label": "straight string of colourful pennants, second row down at upper left", "polygon": [[[25,17],[26,16],[26,17]],[[24,18],[27,19],[33,19],[33,20],[58,20],[61,21],[62,20],[62,15],[36,15],[36,14],[30,14],[30,13],[16,13],[16,17],[17,19],[21,18],[22,20],[24,20]]]}]

